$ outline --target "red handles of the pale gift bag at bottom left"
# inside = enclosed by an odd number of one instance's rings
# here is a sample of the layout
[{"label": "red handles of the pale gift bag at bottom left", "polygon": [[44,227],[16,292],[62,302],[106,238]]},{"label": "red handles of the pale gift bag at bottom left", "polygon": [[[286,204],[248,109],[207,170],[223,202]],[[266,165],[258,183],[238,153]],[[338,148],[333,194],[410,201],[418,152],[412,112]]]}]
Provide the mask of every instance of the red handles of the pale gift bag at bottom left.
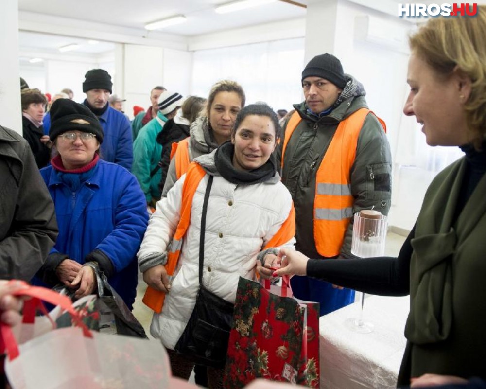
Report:
[{"label": "red handles of the pale gift bag at bottom left", "polygon": [[[17,280],[10,281],[11,283],[19,283]],[[51,303],[52,305],[60,306],[64,311],[69,312],[72,321],[83,330],[83,335],[86,337],[93,337],[85,323],[83,323],[80,314],[73,308],[72,301],[67,296],[63,296],[51,289],[40,286],[31,286],[28,283],[23,283],[26,288],[12,292],[14,296],[31,297],[30,300],[25,301],[23,309],[24,323],[34,323],[35,311],[40,308],[46,312],[42,301]],[[52,321],[52,320],[51,320]],[[55,325],[55,323],[53,323]],[[0,353],[7,352],[10,360],[17,358],[18,344],[17,340],[9,325],[0,322]]]}]

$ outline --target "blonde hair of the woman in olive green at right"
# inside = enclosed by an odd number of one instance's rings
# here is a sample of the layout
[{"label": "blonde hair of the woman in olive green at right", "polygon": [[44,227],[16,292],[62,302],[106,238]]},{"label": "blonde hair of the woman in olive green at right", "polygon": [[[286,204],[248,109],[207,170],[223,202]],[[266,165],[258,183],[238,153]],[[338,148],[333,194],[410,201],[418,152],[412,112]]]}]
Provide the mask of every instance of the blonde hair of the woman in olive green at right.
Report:
[{"label": "blonde hair of the woman in olive green at right", "polygon": [[409,39],[410,49],[439,77],[456,69],[466,74],[471,94],[464,105],[473,144],[480,149],[486,139],[486,6],[478,5],[474,17],[438,17],[429,20]]}]

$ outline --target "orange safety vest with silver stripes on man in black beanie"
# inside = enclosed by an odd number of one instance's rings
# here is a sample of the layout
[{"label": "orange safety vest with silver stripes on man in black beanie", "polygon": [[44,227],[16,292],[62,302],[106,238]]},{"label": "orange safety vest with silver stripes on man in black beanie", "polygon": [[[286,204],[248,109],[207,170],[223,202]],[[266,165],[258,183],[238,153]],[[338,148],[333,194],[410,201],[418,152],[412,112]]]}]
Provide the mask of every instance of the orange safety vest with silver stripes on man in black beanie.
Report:
[{"label": "orange safety vest with silver stripes on man in black beanie", "polygon": [[[323,257],[334,257],[339,254],[353,215],[351,166],[356,158],[358,137],[368,113],[373,112],[367,108],[360,108],[339,123],[316,173],[314,241],[317,252]],[[386,132],[385,122],[378,116],[377,119]],[[282,171],[285,149],[301,120],[298,112],[295,112],[285,128]]]}]

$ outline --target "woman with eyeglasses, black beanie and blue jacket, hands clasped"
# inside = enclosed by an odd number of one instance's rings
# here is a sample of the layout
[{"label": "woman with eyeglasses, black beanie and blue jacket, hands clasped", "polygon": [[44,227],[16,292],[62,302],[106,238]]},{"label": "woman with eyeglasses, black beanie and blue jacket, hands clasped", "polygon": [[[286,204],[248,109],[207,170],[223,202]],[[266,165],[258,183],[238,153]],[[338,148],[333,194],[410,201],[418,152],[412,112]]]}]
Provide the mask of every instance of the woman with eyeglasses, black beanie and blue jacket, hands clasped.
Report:
[{"label": "woman with eyeglasses, black beanie and blue jacket, hands clasped", "polygon": [[132,309],[136,254],[147,228],[145,196],[135,176],[100,159],[103,129],[86,107],[59,99],[49,136],[57,155],[40,171],[54,201],[59,236],[37,278],[64,283],[80,298],[96,293],[94,268]]}]

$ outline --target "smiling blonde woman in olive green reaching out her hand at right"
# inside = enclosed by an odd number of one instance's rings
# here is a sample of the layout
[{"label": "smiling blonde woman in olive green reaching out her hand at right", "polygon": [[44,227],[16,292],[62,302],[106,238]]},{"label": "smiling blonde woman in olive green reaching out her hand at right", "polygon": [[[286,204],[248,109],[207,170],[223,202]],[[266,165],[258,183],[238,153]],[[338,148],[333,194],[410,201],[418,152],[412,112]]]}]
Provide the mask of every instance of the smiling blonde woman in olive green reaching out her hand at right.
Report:
[{"label": "smiling blonde woman in olive green reaching out her hand at right", "polygon": [[[432,18],[410,38],[403,112],[427,144],[465,156],[430,184],[399,257],[326,261],[283,250],[276,275],[307,274],[366,293],[410,294],[398,384],[486,379],[486,6]],[[278,261],[277,261],[278,264]]]}]

